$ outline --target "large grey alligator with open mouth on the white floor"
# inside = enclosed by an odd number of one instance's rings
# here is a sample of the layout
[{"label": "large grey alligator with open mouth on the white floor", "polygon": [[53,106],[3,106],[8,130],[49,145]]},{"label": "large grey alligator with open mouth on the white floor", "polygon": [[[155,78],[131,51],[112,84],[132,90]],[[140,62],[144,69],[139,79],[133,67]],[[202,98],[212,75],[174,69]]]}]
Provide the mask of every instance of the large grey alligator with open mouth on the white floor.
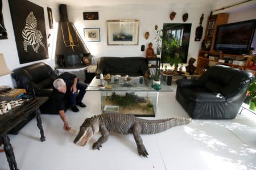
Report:
[{"label": "large grey alligator with open mouth on the white floor", "polygon": [[109,133],[132,133],[137,144],[138,154],[147,157],[148,152],[143,145],[141,134],[155,134],[170,129],[177,125],[186,125],[191,118],[166,118],[162,120],[145,120],[133,114],[105,113],[91,118],[86,118],[80,126],[80,131],[74,140],[77,145],[85,146],[98,131],[101,137],[93,144],[93,150],[102,147],[108,141]]}]

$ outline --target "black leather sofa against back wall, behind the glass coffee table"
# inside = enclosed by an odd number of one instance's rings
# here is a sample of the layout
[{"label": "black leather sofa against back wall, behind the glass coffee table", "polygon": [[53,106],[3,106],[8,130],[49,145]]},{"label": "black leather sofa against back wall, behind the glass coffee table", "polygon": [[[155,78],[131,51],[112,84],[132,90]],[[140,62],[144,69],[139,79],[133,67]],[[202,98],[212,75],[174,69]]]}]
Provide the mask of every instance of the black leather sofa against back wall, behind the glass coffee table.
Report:
[{"label": "black leather sofa against back wall, behind the glass coffee table", "polygon": [[96,78],[100,74],[144,75],[148,69],[147,59],[143,57],[101,57],[97,62]]}]

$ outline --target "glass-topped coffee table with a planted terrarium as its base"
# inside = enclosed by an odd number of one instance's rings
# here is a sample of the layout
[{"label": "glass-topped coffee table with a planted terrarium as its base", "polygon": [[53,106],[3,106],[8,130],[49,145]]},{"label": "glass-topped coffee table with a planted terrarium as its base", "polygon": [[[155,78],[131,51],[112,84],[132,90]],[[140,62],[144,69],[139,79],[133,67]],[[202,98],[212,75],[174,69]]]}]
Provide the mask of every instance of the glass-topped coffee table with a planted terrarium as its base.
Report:
[{"label": "glass-topped coffee table with a planted terrarium as its base", "polygon": [[109,80],[93,78],[86,91],[101,92],[102,113],[134,114],[139,117],[155,117],[159,92],[173,91],[165,82],[161,89],[151,87],[151,81],[143,76],[121,77]]}]

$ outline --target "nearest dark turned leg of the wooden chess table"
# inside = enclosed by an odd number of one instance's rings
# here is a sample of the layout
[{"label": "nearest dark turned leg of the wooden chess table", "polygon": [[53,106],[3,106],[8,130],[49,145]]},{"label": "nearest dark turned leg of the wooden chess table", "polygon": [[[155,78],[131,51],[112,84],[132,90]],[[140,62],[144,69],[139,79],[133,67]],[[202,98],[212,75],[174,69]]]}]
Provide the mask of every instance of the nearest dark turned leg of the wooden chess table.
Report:
[{"label": "nearest dark turned leg of the wooden chess table", "polygon": [[13,147],[11,146],[10,138],[7,136],[7,134],[2,135],[2,142],[3,142],[3,148],[5,149],[5,155],[6,155],[8,163],[9,163],[10,169],[11,170],[19,170],[17,168],[17,163],[15,160]]}]

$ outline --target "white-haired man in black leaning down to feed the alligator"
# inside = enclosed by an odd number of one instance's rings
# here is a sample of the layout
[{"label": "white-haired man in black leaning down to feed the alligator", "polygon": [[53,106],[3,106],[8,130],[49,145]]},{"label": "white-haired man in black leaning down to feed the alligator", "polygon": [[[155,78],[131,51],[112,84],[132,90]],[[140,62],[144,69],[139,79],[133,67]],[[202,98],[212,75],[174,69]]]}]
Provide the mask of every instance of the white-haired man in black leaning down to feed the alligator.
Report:
[{"label": "white-haired man in black leaning down to feed the alligator", "polygon": [[[85,95],[87,85],[78,82],[76,75],[65,72],[61,74],[59,78],[53,82],[53,86],[53,91],[55,93],[59,107],[60,118],[64,122],[63,129],[65,131],[68,131],[71,128],[68,125],[68,121],[64,112],[64,98],[67,97],[69,103],[71,104],[71,109],[73,112],[79,112],[79,109],[76,107],[76,105],[79,105],[82,108],[86,107],[86,105],[82,103],[82,98]],[[78,95],[77,90],[80,90]]]}]

